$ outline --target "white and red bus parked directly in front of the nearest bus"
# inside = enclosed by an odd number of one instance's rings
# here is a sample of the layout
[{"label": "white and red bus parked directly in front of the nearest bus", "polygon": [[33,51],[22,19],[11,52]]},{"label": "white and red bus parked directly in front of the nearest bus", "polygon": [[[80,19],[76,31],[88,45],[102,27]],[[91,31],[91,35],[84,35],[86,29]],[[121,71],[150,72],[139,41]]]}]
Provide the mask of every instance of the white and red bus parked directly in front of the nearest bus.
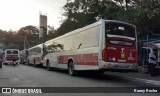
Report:
[{"label": "white and red bus parked directly in front of the nearest bus", "polygon": [[27,49],[27,64],[42,65],[43,63],[43,44],[39,44]]}]

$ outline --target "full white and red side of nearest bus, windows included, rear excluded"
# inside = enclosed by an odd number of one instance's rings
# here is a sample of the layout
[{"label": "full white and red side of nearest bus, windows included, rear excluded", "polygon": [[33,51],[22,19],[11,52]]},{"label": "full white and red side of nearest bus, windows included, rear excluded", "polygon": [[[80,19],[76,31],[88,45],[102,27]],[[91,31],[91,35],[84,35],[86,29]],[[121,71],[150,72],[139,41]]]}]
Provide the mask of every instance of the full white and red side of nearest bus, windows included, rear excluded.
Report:
[{"label": "full white and red side of nearest bus, windows included, rear excluded", "polygon": [[[47,66],[46,63],[49,60],[50,67],[68,69],[68,60],[72,59],[75,70],[98,69],[99,31],[100,22],[96,22],[45,42],[45,46],[49,47],[51,45],[49,44],[50,42],[53,43],[60,39],[61,41],[58,42],[63,44],[64,50],[58,50],[59,52],[56,52],[58,48],[55,48],[55,52],[49,52],[45,55],[43,66]],[[68,46],[71,46],[71,48],[69,49]],[[93,68],[91,68],[92,65]],[[85,66],[89,67],[87,68]]]}]

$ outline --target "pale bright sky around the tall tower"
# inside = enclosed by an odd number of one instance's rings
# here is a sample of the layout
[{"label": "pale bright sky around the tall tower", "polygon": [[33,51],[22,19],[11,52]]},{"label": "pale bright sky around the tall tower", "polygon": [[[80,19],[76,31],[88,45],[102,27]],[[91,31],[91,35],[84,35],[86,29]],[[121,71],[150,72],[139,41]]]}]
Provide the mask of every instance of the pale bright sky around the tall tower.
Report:
[{"label": "pale bright sky around the tall tower", "polygon": [[17,31],[39,27],[39,14],[47,14],[48,25],[58,28],[67,0],[0,0],[0,29]]}]

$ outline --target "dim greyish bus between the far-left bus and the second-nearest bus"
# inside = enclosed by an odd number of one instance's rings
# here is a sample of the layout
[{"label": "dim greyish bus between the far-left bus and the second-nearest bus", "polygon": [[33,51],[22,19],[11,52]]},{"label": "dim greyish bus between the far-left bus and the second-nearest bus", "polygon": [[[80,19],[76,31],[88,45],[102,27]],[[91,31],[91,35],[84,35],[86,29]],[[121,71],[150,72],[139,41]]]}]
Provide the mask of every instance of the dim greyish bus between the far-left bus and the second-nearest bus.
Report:
[{"label": "dim greyish bus between the far-left bus and the second-nearest bus", "polygon": [[24,49],[20,51],[20,63],[25,64],[27,63],[27,57],[28,57],[28,50]]}]

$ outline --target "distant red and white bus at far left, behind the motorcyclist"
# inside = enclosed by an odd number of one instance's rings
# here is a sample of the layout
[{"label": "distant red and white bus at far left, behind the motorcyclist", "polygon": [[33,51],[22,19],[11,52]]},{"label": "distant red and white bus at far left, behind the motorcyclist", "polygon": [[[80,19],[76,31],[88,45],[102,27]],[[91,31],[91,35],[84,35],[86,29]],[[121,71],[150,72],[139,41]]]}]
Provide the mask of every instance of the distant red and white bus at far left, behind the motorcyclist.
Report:
[{"label": "distant red and white bus at far left, behind the motorcyclist", "polygon": [[16,59],[16,63],[20,63],[19,49],[6,49],[3,53],[3,64],[13,64],[13,58]]}]

